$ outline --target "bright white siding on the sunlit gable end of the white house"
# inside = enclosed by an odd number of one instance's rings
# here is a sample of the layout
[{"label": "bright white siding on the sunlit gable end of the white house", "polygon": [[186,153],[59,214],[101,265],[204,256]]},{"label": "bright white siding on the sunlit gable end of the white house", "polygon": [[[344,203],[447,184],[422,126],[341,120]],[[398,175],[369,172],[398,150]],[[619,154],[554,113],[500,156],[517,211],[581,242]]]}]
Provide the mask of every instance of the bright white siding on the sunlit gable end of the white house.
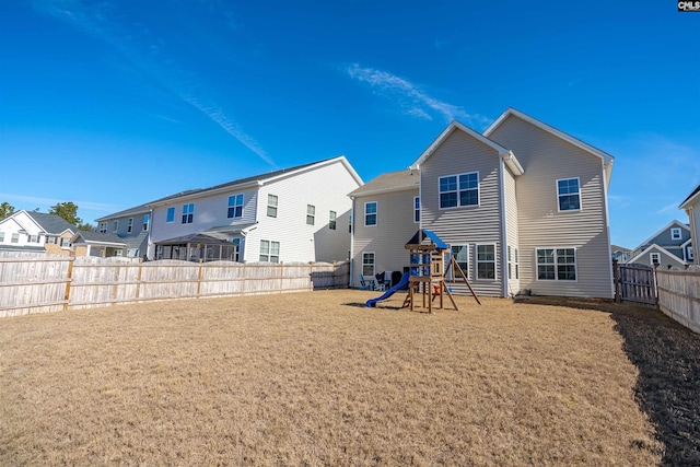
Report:
[{"label": "bright white siding on the sunlit gable end of the white house", "polygon": [[[259,189],[258,224],[246,236],[245,260],[259,259],[260,240],[280,243],[280,261],[334,261],[348,259],[348,217],[352,201],[348,194],[360,184],[337,160],[314,165]],[[277,218],[267,215],[267,198],[277,195]],[[306,206],[316,208],[314,225],[306,224]],[[337,227],[328,227],[329,211],[337,213]]]}]

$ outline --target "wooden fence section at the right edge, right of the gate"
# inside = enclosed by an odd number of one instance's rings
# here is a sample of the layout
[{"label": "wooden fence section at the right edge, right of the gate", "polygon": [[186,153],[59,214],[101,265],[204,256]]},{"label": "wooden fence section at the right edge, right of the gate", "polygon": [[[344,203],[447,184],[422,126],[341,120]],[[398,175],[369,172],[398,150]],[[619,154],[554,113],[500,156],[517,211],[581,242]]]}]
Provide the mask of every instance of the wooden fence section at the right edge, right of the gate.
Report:
[{"label": "wooden fence section at the right edge, right of the gate", "polygon": [[700,332],[700,267],[656,269],[658,307],[696,332]]}]

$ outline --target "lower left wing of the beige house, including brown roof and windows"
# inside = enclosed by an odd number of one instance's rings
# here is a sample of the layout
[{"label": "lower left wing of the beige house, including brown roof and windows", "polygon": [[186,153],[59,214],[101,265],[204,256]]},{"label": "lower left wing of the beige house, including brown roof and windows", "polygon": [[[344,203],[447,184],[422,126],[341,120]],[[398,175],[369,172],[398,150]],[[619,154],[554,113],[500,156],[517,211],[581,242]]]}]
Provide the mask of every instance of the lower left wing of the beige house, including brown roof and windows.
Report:
[{"label": "lower left wing of the beige house, including brown roof and windows", "polygon": [[408,267],[404,245],[419,227],[419,172],[407,168],[382,174],[350,192],[354,212],[352,283],[358,283],[359,275],[404,272]]}]

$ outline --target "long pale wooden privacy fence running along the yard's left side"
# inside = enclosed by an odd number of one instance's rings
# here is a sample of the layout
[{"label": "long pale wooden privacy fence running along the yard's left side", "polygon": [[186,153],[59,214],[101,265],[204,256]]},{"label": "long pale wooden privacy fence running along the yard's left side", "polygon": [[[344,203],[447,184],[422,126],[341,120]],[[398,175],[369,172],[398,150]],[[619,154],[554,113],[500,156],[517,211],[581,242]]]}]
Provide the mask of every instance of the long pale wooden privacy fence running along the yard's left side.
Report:
[{"label": "long pale wooden privacy fence running along the yard's left side", "polygon": [[0,254],[0,317],[151,300],[347,288],[349,264],[189,262]]}]

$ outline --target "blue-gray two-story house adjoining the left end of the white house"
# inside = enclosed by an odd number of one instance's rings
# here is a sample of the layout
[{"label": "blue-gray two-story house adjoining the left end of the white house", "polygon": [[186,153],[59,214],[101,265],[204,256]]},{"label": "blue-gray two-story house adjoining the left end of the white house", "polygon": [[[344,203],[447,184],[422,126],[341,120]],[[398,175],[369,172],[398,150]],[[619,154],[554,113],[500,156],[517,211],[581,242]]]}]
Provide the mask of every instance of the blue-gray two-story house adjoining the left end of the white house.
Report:
[{"label": "blue-gray two-story house adjoining the left end of the white house", "polygon": [[[121,238],[127,257],[143,257],[147,254],[151,229],[151,209],[147,205],[105,215],[95,222],[97,233],[114,234]],[[109,246],[105,245],[105,248]]]}]

